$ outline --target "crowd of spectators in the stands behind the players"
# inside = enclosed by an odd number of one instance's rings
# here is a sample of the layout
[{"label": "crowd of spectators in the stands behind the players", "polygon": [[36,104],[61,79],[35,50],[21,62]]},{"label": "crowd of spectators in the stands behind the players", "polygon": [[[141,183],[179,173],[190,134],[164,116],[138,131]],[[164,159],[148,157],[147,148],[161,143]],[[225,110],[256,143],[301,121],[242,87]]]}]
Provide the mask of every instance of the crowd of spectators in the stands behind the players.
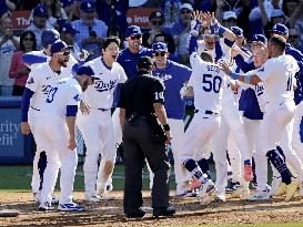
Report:
[{"label": "crowd of spectators in the stands behind the players", "polygon": [[[43,49],[43,30],[57,29],[61,39],[74,45],[74,55],[84,49],[89,61],[102,54],[100,44],[107,35],[117,34],[124,40],[131,4],[131,0],[0,0],[0,95],[22,94],[29,72],[21,56]],[[189,63],[186,38],[194,10],[215,12],[226,28],[242,28],[243,43],[249,43],[255,33],[269,37],[273,24],[283,23],[290,29],[289,42],[303,50],[303,0],[156,0],[153,7],[160,10],[149,16],[143,45],[150,48],[163,41],[170,59],[183,64]],[[32,10],[31,24],[20,37],[14,35],[14,10]],[[127,42],[121,48],[125,45]]]}]

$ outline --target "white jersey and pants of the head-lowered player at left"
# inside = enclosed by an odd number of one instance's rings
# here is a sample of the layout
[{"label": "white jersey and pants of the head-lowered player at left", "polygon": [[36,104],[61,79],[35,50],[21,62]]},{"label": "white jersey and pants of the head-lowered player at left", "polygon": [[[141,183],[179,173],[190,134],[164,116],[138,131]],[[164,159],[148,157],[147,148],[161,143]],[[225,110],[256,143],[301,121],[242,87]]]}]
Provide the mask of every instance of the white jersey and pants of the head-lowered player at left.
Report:
[{"label": "white jersey and pants of the head-lowered player at left", "polygon": [[82,90],[78,81],[70,78],[53,81],[50,86],[40,114],[34,121],[37,143],[46,151],[48,157],[40,203],[51,203],[60,168],[60,204],[70,204],[78,156],[75,149],[68,148],[70,134],[65,116],[68,105],[79,106]]}]

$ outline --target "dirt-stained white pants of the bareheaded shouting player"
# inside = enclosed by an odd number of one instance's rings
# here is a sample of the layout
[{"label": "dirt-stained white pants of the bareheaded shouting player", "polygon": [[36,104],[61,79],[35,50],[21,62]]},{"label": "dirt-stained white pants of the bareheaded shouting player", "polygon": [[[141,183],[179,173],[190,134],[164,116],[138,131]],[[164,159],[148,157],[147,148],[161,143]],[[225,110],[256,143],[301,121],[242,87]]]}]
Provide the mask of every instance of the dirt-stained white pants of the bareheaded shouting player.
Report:
[{"label": "dirt-stained white pants of the bareheaded shouting player", "polygon": [[[97,189],[103,190],[112,175],[115,161],[114,132],[111,112],[91,109],[89,115],[79,113],[77,126],[81,131],[87,145],[84,186],[88,196],[97,195]],[[98,159],[101,163],[98,171]]]}]

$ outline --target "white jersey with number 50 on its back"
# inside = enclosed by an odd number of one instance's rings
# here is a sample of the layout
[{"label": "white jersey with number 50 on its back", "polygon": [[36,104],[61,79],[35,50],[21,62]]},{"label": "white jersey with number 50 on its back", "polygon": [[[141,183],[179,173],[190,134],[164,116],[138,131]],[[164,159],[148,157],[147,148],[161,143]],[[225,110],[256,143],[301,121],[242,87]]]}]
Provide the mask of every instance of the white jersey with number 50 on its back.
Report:
[{"label": "white jersey with number 50 on its back", "polygon": [[192,65],[192,75],[189,86],[194,91],[194,105],[199,112],[221,111],[222,91],[226,82],[225,74],[219,65],[204,62],[198,53],[190,56]]}]

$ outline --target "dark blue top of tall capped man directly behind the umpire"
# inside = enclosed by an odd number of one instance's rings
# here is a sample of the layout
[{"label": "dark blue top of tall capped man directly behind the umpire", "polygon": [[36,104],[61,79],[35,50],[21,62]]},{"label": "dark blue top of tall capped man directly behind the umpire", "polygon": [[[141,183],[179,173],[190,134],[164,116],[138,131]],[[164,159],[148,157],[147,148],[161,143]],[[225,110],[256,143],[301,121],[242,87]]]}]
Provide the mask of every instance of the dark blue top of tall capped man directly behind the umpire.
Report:
[{"label": "dark blue top of tall capped man directly behind the umpire", "polygon": [[137,62],[141,56],[152,56],[152,50],[142,48],[139,53],[132,53],[129,48],[122,50],[118,56],[119,64],[124,69],[128,79],[132,79],[139,74]]}]

